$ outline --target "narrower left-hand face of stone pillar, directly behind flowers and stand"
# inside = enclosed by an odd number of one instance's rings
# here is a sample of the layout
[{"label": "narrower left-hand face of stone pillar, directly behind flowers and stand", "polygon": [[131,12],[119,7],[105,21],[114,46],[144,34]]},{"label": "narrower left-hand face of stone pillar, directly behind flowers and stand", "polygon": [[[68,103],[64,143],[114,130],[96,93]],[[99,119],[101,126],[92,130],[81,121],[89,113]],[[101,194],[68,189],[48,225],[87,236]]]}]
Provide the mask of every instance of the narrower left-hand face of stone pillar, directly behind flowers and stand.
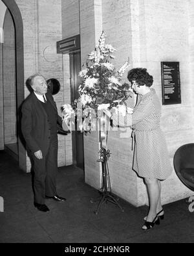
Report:
[{"label": "narrower left-hand face of stone pillar, directly behind flowers and stand", "polygon": [[[120,68],[129,59],[133,66],[133,42],[131,29],[131,3],[130,1],[102,1],[102,27],[107,34],[107,44],[116,48],[113,60],[114,66]],[[130,67],[130,68],[131,68]],[[127,81],[127,72],[123,82]],[[135,99],[128,99],[131,107]],[[133,151],[131,151],[131,129],[109,132],[108,148],[111,151],[109,159],[109,173],[111,188],[115,194],[138,205],[138,179],[131,170]]]}]

